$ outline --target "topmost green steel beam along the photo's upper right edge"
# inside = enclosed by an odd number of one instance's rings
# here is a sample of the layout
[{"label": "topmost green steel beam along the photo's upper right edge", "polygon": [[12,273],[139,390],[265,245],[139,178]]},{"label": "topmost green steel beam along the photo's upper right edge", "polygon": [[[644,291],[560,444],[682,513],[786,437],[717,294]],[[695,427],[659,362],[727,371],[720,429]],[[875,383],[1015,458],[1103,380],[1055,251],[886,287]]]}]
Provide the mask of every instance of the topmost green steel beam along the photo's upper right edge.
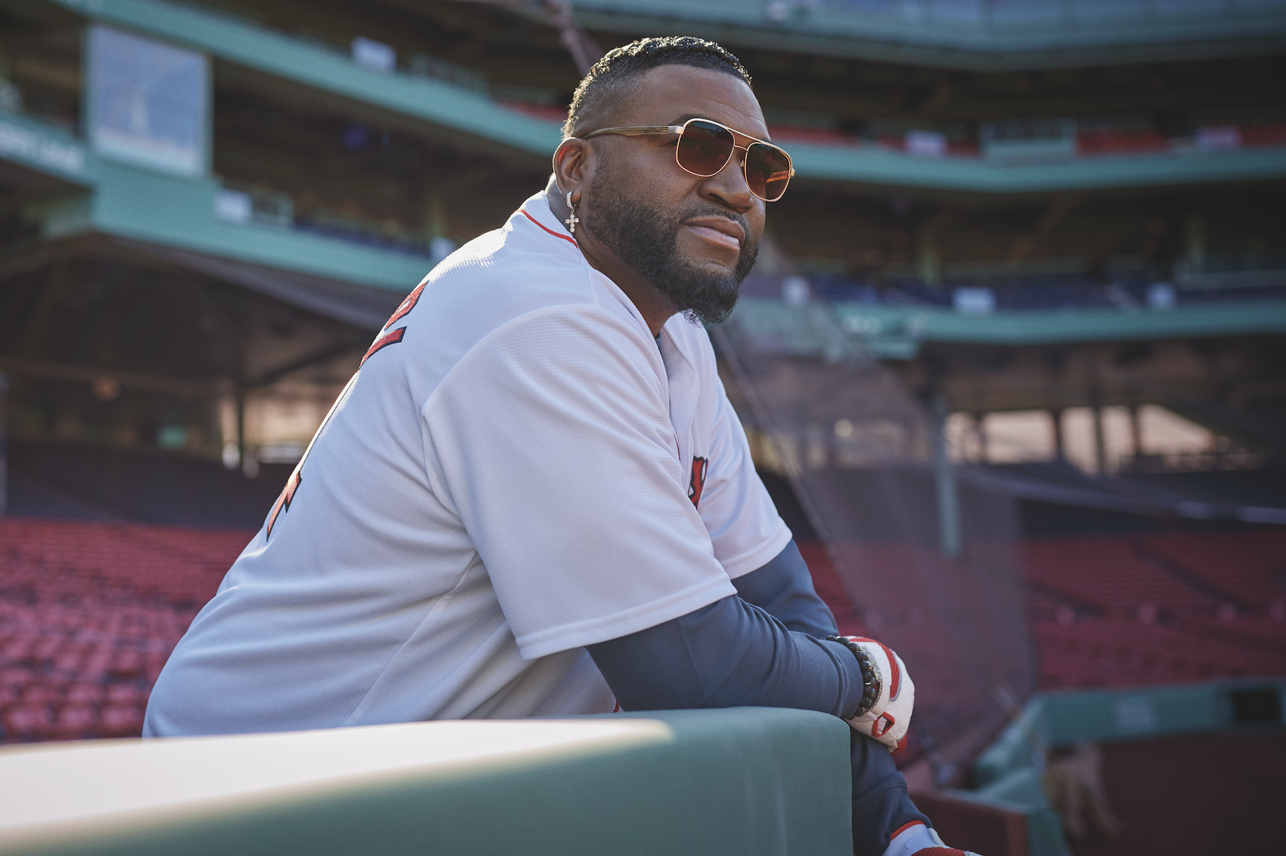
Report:
[{"label": "topmost green steel beam along the photo's upper right edge", "polygon": [[[1074,3],[1030,21],[935,17],[925,4],[887,12],[804,4],[746,5],[741,0],[577,0],[586,27],[624,33],[698,35],[811,55],[873,59],[966,71],[1011,71],[1280,53],[1286,9],[1263,5],[1130,14],[1079,14]],[[1102,6],[1100,6],[1102,9]],[[774,21],[772,12],[784,12]]]}]

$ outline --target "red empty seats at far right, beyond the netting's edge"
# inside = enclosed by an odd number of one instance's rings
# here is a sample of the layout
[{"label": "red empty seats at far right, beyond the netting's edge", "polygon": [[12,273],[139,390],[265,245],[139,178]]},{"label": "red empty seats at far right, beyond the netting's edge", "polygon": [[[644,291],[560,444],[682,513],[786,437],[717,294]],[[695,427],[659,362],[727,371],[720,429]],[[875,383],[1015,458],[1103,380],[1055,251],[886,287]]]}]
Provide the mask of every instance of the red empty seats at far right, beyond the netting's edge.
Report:
[{"label": "red empty seats at far right, beyond the netting's edge", "polygon": [[1286,532],[1028,544],[1046,689],[1286,675]]}]

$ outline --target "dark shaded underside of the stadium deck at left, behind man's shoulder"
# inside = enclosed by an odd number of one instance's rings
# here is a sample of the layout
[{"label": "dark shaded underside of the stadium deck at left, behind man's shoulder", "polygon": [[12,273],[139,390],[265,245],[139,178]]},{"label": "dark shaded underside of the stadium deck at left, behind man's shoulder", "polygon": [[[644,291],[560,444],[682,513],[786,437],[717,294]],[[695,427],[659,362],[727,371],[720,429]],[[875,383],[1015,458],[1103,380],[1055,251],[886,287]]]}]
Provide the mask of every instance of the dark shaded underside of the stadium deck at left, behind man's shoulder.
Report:
[{"label": "dark shaded underside of the stadium deck at left, behind man's shoulder", "polygon": [[[342,382],[400,299],[388,289],[80,234],[0,265],[0,370],[90,384],[107,377],[198,398],[283,379]],[[105,355],[104,341],[116,343]]]}]

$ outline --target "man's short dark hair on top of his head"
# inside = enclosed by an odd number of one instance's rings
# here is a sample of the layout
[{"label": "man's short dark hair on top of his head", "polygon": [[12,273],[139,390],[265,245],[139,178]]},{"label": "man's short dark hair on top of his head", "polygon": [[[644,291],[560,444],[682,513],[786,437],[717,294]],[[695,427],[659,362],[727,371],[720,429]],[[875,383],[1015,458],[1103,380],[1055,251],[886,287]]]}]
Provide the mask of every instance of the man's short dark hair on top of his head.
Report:
[{"label": "man's short dark hair on top of his head", "polygon": [[563,136],[629,90],[640,75],[660,66],[692,66],[739,77],[754,89],[750,72],[732,51],[696,36],[653,36],[613,48],[585,75],[571,98]]}]

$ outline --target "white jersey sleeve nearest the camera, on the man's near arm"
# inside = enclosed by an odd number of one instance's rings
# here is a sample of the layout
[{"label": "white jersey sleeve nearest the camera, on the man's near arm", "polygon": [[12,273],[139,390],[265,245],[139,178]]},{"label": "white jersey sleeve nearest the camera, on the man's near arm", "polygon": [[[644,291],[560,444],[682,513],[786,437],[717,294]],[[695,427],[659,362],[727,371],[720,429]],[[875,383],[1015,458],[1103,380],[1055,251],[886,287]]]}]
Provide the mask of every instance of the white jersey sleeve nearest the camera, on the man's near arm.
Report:
[{"label": "white jersey sleeve nearest the camera, on the man's near arm", "polygon": [[639,339],[599,307],[532,312],[478,342],[422,407],[430,485],[526,659],[736,594],[687,497],[664,370]]}]

